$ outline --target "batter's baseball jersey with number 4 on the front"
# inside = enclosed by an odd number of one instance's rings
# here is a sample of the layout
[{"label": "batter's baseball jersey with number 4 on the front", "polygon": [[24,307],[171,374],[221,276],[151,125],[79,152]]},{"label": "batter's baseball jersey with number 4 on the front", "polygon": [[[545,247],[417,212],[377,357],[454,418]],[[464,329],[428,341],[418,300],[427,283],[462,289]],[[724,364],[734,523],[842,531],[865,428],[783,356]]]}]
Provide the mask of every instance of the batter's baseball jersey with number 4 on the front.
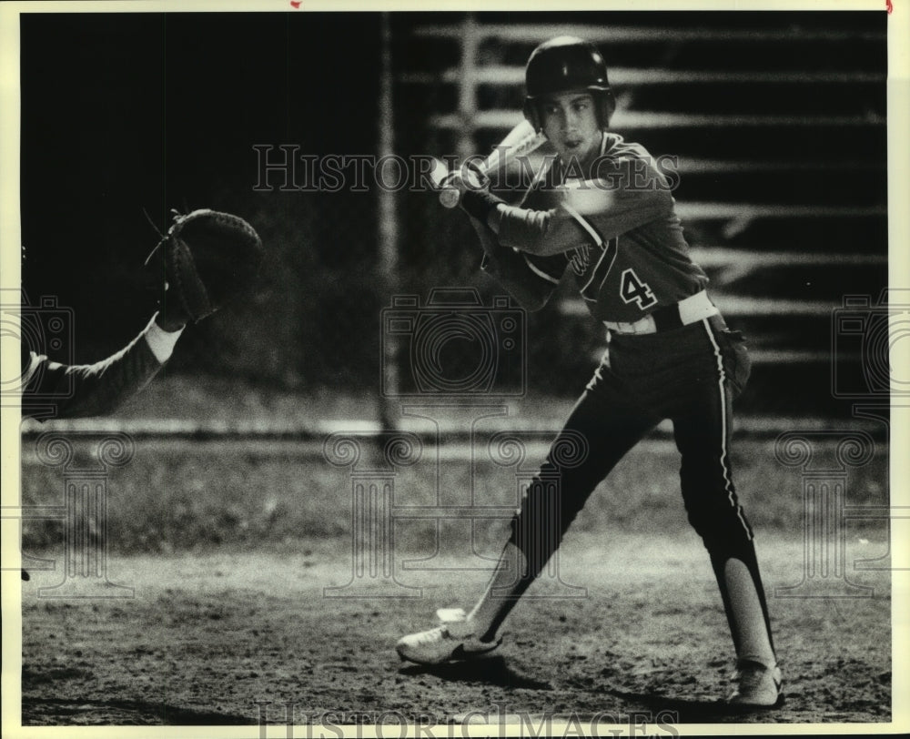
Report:
[{"label": "batter's baseball jersey with number 4 on the front", "polygon": [[[507,273],[529,271],[545,293],[571,269],[591,313],[608,321],[641,319],[705,288],[708,278],[689,256],[667,179],[644,147],[604,132],[590,178],[559,160],[548,164],[521,206],[497,211],[499,244],[520,257],[500,255],[501,264],[485,265],[487,271],[504,281]],[[582,190],[595,205],[583,215],[572,205]]]}]

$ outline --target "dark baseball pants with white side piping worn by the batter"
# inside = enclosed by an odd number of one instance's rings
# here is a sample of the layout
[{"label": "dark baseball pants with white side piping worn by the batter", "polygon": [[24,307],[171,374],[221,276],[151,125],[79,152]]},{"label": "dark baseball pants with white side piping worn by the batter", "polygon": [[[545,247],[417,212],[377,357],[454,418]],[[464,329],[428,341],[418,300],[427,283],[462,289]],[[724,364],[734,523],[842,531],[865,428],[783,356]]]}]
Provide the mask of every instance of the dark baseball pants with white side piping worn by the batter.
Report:
[{"label": "dark baseball pants with white side piping worn by the batter", "polygon": [[[515,597],[541,572],[616,463],[661,420],[670,419],[682,456],[685,510],[710,555],[731,628],[723,567],[734,557],[752,575],[770,634],[753,531],[736,496],[730,461],[732,401],[749,371],[742,335],[729,331],[720,316],[652,334],[613,334],[512,520],[511,542],[525,554],[528,567]],[[577,455],[581,461],[561,464],[566,446],[578,446],[580,439],[586,446]]]}]

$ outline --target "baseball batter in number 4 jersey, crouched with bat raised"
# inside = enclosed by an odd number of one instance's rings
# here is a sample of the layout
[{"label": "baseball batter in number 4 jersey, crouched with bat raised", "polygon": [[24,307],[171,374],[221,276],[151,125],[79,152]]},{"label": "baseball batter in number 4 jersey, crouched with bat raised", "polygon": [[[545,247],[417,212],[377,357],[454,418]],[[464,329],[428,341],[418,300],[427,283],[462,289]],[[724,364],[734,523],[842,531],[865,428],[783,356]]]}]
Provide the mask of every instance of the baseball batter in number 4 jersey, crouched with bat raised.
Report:
[{"label": "baseball batter in number 4 jersey, crouched with bat raised", "polygon": [[[689,256],[666,178],[643,147],[608,129],[614,103],[601,53],[579,38],[551,39],[531,54],[525,81],[524,114],[558,157],[536,174],[519,206],[460,183],[460,175],[452,183],[460,184],[460,206],[480,234],[481,267],[526,309],[540,309],[571,270],[609,349],[525,492],[487,590],[468,612],[440,609],[438,626],[403,637],[397,651],[435,664],[496,650],[503,622],[591,492],[670,419],[685,510],[708,552],[733,636],[736,684],[728,700],[777,705],[781,672],[731,466],[732,401],[750,370],[743,336],[727,329],[705,292],[708,278]],[[582,214],[571,196],[595,185],[599,208]],[[555,450],[580,438],[587,447],[581,463],[561,464]],[[544,482],[554,475],[555,491]]]}]

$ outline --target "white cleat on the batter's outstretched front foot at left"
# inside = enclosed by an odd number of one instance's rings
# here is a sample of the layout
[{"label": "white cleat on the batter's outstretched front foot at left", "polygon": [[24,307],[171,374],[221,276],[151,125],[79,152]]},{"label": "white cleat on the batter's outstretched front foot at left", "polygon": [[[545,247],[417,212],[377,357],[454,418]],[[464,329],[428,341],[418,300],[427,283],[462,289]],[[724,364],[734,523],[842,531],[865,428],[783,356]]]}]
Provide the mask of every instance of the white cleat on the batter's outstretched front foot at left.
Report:
[{"label": "white cleat on the batter's outstretched front foot at left", "polygon": [[402,660],[418,664],[441,664],[485,657],[502,643],[498,637],[481,642],[476,624],[460,608],[440,608],[440,625],[425,632],[402,636],[395,650]]}]

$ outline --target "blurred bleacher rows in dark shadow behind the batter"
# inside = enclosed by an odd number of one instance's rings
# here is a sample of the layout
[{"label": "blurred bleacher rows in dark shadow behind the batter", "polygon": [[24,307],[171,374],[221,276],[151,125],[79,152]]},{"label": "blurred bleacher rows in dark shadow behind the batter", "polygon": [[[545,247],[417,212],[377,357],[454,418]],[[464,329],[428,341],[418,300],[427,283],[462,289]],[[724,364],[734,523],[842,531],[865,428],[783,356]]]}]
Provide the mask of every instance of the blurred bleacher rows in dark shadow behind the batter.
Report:
[{"label": "blurred bleacher rows in dark shadow behind the batter", "polygon": [[[677,212],[713,299],[750,339],[753,381],[810,388],[806,402],[824,405],[834,309],[887,285],[884,16],[423,16],[401,31],[397,82],[430,101],[438,145],[465,157],[521,119],[534,46],[563,34],[597,44],[612,129],[676,157]],[[561,312],[586,309],[566,291]]]}]

